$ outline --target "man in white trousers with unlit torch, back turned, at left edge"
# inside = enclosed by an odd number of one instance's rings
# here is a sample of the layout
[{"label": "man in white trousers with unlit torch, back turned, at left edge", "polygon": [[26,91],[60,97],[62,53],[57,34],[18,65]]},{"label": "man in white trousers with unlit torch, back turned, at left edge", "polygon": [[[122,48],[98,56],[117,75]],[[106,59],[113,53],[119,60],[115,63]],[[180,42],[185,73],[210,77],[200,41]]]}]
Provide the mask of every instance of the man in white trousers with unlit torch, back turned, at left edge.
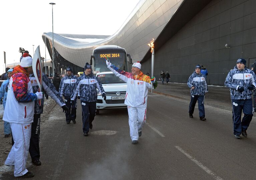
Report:
[{"label": "man in white trousers with unlit torch, back turned, at left edge", "polygon": [[34,176],[26,169],[26,162],[34,115],[34,101],[42,99],[43,93],[33,93],[29,80],[29,73],[32,72],[32,58],[25,53],[20,65],[14,67],[8,85],[3,120],[10,123],[14,145],[5,165],[14,166],[15,177]]}]

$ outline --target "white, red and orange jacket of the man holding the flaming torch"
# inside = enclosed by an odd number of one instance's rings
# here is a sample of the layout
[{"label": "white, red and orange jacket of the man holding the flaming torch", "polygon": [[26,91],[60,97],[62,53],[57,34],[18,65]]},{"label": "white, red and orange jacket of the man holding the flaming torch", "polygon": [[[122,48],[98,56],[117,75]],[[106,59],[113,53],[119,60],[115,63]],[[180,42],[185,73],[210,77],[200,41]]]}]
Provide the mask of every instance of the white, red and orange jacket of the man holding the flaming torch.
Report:
[{"label": "white, red and orange jacket of the man holding the flaming torch", "polygon": [[[110,63],[108,68],[120,79],[127,83],[124,104],[136,108],[147,108],[148,89],[151,88],[150,77],[143,74],[133,75],[125,72]],[[154,83],[156,87],[157,82]]]}]

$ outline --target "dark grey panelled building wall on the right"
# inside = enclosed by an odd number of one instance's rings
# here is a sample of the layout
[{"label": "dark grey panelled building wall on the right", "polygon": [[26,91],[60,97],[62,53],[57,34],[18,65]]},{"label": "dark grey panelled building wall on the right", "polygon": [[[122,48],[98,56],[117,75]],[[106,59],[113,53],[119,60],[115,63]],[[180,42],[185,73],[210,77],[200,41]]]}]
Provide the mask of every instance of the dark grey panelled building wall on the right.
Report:
[{"label": "dark grey panelled building wall on the right", "polygon": [[[159,78],[164,70],[171,82],[186,83],[200,64],[208,70],[208,84],[224,85],[236,59],[245,58],[249,67],[255,62],[255,7],[256,0],[212,0],[155,52],[154,75]],[[151,74],[151,58],[142,63],[142,70]]]}]

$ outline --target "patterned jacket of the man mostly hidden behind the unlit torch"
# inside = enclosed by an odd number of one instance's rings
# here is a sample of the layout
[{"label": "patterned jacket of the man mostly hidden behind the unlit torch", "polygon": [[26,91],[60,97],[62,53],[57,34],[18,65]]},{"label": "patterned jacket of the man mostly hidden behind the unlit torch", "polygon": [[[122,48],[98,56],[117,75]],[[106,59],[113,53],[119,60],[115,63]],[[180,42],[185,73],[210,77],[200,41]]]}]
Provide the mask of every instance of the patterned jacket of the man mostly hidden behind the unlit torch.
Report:
[{"label": "patterned jacket of the man mostly hidden behind the unlit torch", "polygon": [[[36,93],[39,89],[39,86],[36,82],[34,73],[29,75],[29,79],[32,84],[33,93]],[[42,88],[43,91],[46,92],[52,99],[56,101],[56,103],[61,107],[66,105],[60,97],[59,92],[56,90],[54,85],[52,84],[51,80],[43,73],[43,79],[42,79]],[[34,114],[42,114],[43,113],[43,104],[44,104],[44,96],[41,100],[41,106],[39,105],[39,101],[35,101],[35,112]]]}]

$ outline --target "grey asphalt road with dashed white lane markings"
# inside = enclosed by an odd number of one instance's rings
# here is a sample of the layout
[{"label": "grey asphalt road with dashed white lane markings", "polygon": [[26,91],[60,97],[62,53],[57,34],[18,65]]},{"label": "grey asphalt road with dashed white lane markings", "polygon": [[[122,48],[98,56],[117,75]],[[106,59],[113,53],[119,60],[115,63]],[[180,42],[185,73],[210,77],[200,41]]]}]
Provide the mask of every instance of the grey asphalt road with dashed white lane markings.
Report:
[{"label": "grey asphalt road with dashed white lane markings", "polygon": [[[42,165],[28,164],[35,173],[31,179],[255,179],[255,121],[247,138],[235,139],[231,112],[206,106],[203,122],[197,108],[189,118],[188,105],[149,94],[147,124],[138,144],[131,144],[126,109],[100,111],[85,137],[80,105],[77,123],[70,125],[55,106],[47,128],[41,129]],[[13,172],[2,178],[13,179]]]}]

